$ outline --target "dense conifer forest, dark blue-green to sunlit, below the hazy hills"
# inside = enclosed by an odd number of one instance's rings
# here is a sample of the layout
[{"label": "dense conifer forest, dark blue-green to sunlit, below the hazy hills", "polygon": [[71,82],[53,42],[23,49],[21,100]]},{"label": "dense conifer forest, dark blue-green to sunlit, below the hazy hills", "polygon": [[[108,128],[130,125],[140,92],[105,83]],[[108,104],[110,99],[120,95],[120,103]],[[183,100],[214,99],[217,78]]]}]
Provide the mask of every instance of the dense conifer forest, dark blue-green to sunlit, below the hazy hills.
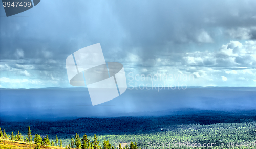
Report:
[{"label": "dense conifer forest, dark blue-green to sunlit, below the hazy hills", "polygon": [[[211,148],[218,148],[221,145],[226,148],[255,148],[255,121],[254,110],[200,111],[161,117],[1,122],[0,133],[1,145],[4,144],[4,140],[19,141],[32,143],[36,149],[44,146],[189,148],[191,146],[187,145],[195,143],[211,145]],[[175,144],[178,146],[173,146]],[[179,146],[181,144],[183,146]]]}]

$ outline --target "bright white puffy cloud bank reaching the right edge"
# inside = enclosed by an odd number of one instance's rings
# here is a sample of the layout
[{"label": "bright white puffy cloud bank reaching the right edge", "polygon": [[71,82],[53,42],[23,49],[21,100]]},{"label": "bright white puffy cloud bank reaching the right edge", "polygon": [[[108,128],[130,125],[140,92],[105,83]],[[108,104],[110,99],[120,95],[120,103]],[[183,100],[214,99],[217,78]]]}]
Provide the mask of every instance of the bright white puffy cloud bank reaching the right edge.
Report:
[{"label": "bright white puffy cloud bank reaching the right edge", "polygon": [[253,67],[256,65],[256,42],[246,41],[242,44],[238,41],[230,41],[216,52],[186,53],[183,56],[183,63],[218,67]]}]

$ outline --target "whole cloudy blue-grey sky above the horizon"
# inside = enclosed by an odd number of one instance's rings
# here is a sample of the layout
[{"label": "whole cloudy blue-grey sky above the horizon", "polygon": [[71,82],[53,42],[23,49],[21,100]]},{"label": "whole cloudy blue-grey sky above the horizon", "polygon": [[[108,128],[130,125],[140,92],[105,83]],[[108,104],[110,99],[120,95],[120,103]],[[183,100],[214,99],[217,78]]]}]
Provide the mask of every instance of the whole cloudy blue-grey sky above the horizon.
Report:
[{"label": "whole cloudy blue-grey sky above the horizon", "polygon": [[106,62],[123,64],[127,87],[255,86],[255,8],[253,0],[44,0],[6,17],[0,7],[0,87],[73,87],[66,58],[96,43]]}]

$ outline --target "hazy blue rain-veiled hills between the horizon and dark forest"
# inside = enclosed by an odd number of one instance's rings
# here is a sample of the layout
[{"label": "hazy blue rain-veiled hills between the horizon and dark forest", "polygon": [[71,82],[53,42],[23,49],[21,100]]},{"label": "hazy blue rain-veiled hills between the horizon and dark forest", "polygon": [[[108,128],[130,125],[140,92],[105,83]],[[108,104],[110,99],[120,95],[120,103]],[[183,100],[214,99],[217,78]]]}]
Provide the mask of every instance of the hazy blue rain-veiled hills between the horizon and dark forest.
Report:
[{"label": "hazy blue rain-veiled hills between the horizon and dark forest", "polygon": [[253,110],[256,87],[130,90],[92,106],[87,88],[0,89],[2,120],[160,116],[179,109]]}]

